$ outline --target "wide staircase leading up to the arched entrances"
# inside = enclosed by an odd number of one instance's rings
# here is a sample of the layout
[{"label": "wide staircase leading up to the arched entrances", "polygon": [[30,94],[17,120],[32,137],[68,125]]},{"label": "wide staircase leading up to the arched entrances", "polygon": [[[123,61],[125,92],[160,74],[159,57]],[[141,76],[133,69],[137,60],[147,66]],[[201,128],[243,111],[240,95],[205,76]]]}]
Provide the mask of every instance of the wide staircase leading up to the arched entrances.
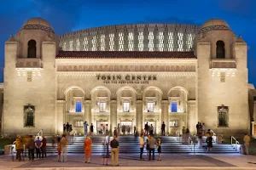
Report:
[{"label": "wide staircase leading up to the arched entrances", "polygon": [[[47,152],[57,152],[57,144],[52,146],[52,137],[47,138]],[[103,136],[91,136],[92,139],[92,153],[102,153],[104,152],[102,140]],[[72,137],[68,136],[68,146],[67,152],[69,153],[84,153],[84,136]],[[139,153],[139,139],[140,137],[134,136],[119,136],[119,153]],[[145,140],[147,137],[145,138]],[[183,144],[182,138],[171,137],[171,136],[161,136],[161,150],[162,153],[239,153],[239,149],[236,145],[232,144],[217,144],[213,142],[213,147],[211,151],[207,151],[206,138],[203,139],[203,147],[199,148],[197,146],[196,139],[192,139],[189,144]],[[157,139],[156,139],[157,140]],[[157,150],[155,150],[157,151]]]}]

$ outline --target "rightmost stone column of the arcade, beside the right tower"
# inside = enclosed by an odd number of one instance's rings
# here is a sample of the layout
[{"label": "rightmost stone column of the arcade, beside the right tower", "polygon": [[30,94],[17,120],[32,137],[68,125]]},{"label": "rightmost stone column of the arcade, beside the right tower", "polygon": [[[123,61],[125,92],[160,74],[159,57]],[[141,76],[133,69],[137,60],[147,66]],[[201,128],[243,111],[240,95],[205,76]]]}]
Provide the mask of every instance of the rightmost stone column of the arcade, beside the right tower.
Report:
[{"label": "rightmost stone column of the arcade, beside the right tower", "polygon": [[197,124],[197,120],[198,118],[196,117],[196,108],[195,108],[195,100],[188,100],[187,102],[188,105],[188,111],[187,111],[187,117],[188,117],[188,123],[187,127],[185,128],[189,128],[189,131],[191,134],[196,133],[196,124]]}]

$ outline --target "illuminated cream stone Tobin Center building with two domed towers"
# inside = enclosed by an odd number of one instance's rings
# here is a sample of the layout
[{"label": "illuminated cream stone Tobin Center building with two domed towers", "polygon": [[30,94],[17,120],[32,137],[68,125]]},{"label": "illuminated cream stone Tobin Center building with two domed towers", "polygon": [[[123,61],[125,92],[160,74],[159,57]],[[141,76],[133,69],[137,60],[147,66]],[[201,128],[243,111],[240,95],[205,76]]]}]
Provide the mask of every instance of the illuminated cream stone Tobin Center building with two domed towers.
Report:
[{"label": "illuminated cream stone Tobin Center building with two domed towers", "polygon": [[[224,20],[105,26],[57,37],[27,20],[5,43],[3,133],[84,133],[153,125],[159,134],[250,130],[247,44]],[[251,87],[251,86],[250,86]],[[242,117],[242,118],[241,118]]]}]

